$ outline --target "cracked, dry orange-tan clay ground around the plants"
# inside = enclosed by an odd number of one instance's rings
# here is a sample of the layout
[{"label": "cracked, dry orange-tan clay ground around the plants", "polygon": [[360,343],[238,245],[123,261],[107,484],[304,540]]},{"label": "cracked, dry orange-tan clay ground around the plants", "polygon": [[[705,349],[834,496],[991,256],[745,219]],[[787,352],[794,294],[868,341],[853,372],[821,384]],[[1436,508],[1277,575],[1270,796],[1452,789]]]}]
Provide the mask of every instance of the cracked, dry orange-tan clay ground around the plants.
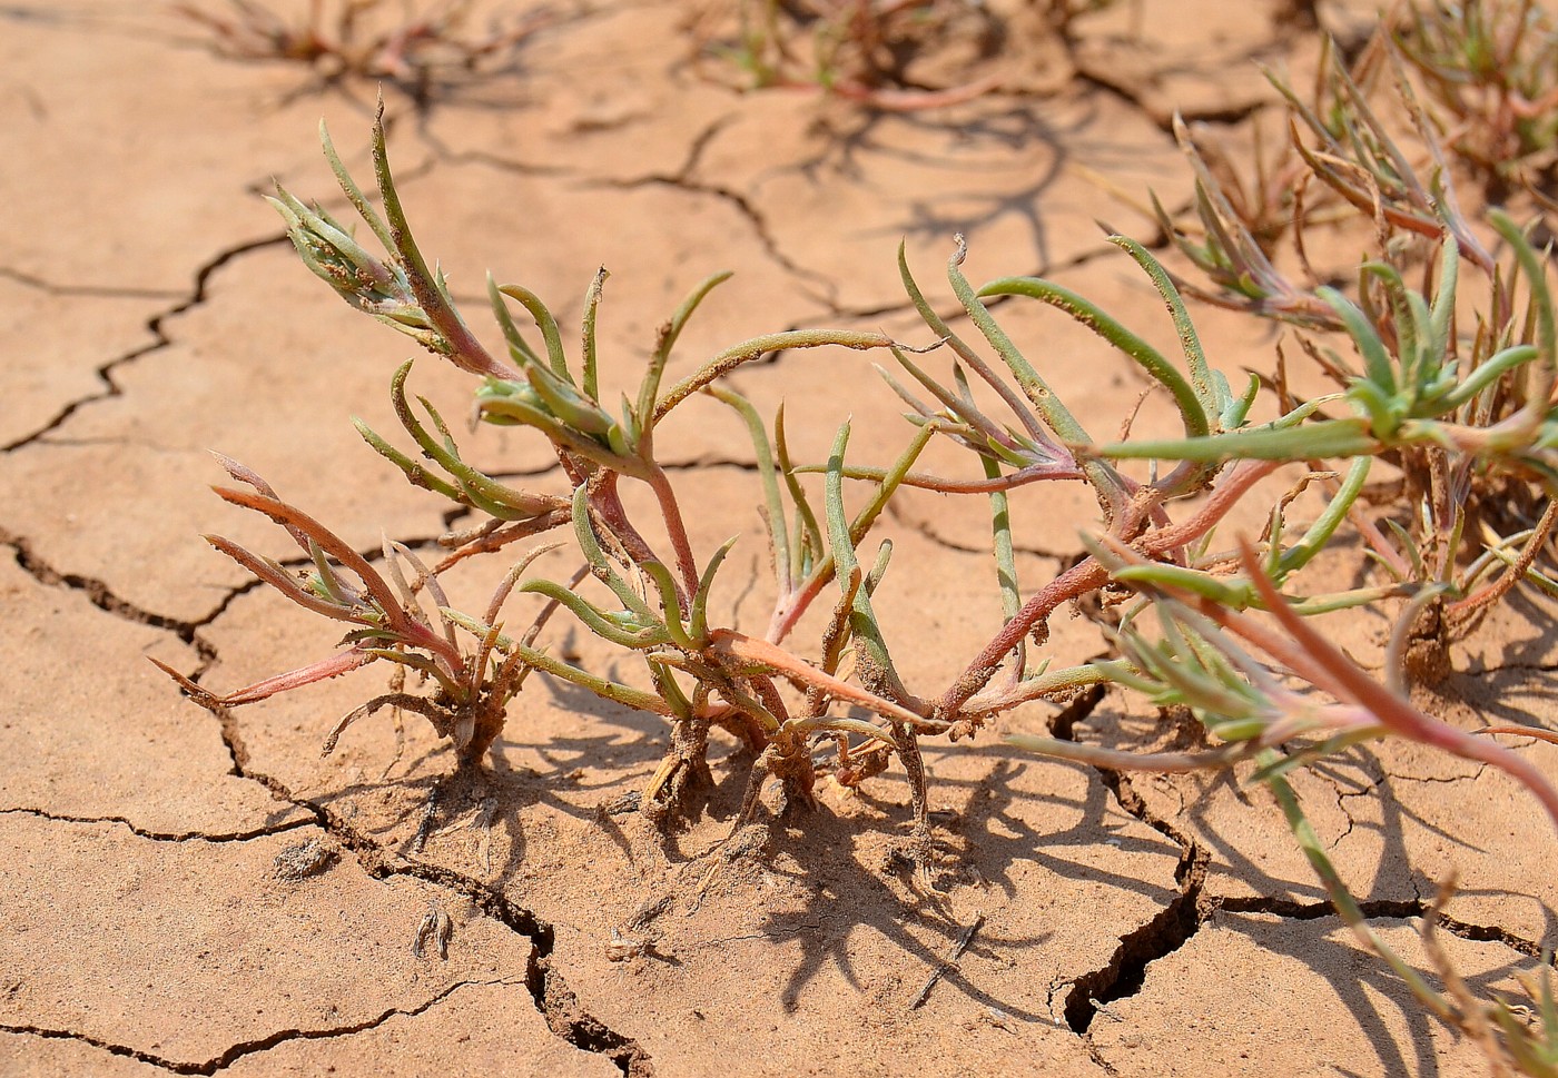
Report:
[{"label": "cracked, dry orange-tan clay ground around the plants", "polygon": [[[1253,61],[1313,58],[1279,8],[1120,3],[1081,20],[1070,48],[1038,30],[1008,42],[1005,89],[890,114],[738,92],[734,69],[696,56],[695,37],[717,33],[709,5],[556,3],[511,67],[421,101],[388,87],[390,145],[422,248],[478,332],[488,268],[566,321],[595,268],[611,270],[603,365],[625,385],[678,299],[726,268],[673,377],[788,327],[922,338],[894,248],[907,237],[947,308],[953,232],[971,277],[1053,276],[1168,346],[1161,304],[1095,220],[1150,240],[1130,199],[1151,185],[1184,206],[1173,109],[1235,140],[1271,122]],[[1366,22],[1320,9],[1337,33]],[[1156,28],[1150,44],[1133,19]],[[975,48],[977,34],[949,34],[949,50]],[[717,740],[715,791],[665,833],[631,808],[664,724],[539,678],[488,788],[421,849],[422,804],[452,759],[416,717],[404,737],[386,715],[363,721],[319,756],[335,718],[383,690],[377,667],[224,720],[184,699],[148,659],[229,690],[335,640],[199,541],[285,553],[209,494],[224,478],[209,449],[365,551],[382,530],[432,544],[450,523],[349,422],[399,433],[386,385],[413,346],[308,276],[259,198],[279,178],[340,207],[316,125],[366,174],[372,84],[209,44],[154,5],[0,6],[0,1073],[1482,1070],[1331,916],[1262,787],[1130,779],[1000,738],[1175,738],[1114,695],[1059,717],[1031,706],[972,745],[927,743],[929,879],[896,855],[897,770],[860,791],[823,780],[818,812],[720,846],[749,762]],[[952,56],[950,75],[916,78],[952,86],[982,62],[997,61]],[[1144,385],[1130,365],[1053,312],[1003,321],[1084,422],[1119,428]],[[1204,333],[1226,371],[1271,360],[1264,326],[1209,312]],[[461,413],[458,372],[424,357],[413,377]],[[798,458],[824,455],[848,414],[865,456],[907,439],[855,354],[785,354],[734,385],[804,416]],[[757,584],[721,601],[760,628],[771,597],[749,442],[712,402],[679,414],[662,456],[696,492],[695,547],[743,534],[737,575]],[[469,441],[478,463],[566,489],[534,439]],[[1016,509],[1025,587],[1077,556],[1091,520],[1084,497],[1045,497]],[[879,609],[925,685],[999,625],[983,511],[955,509],[908,497],[885,525],[896,564],[916,569],[888,576]],[[1550,625],[1522,598],[1483,626],[1440,713],[1552,724]],[[1384,626],[1359,615],[1360,656]],[[609,661],[581,634],[558,629],[553,646]],[[1077,617],[1050,646],[1064,664],[1105,643]],[[1550,746],[1521,751],[1558,773]],[[1510,989],[1558,942],[1552,835],[1499,774],[1384,748],[1301,774],[1298,790],[1408,960],[1424,963],[1418,918],[1452,866],[1465,893],[1447,946],[1475,991]]]}]

